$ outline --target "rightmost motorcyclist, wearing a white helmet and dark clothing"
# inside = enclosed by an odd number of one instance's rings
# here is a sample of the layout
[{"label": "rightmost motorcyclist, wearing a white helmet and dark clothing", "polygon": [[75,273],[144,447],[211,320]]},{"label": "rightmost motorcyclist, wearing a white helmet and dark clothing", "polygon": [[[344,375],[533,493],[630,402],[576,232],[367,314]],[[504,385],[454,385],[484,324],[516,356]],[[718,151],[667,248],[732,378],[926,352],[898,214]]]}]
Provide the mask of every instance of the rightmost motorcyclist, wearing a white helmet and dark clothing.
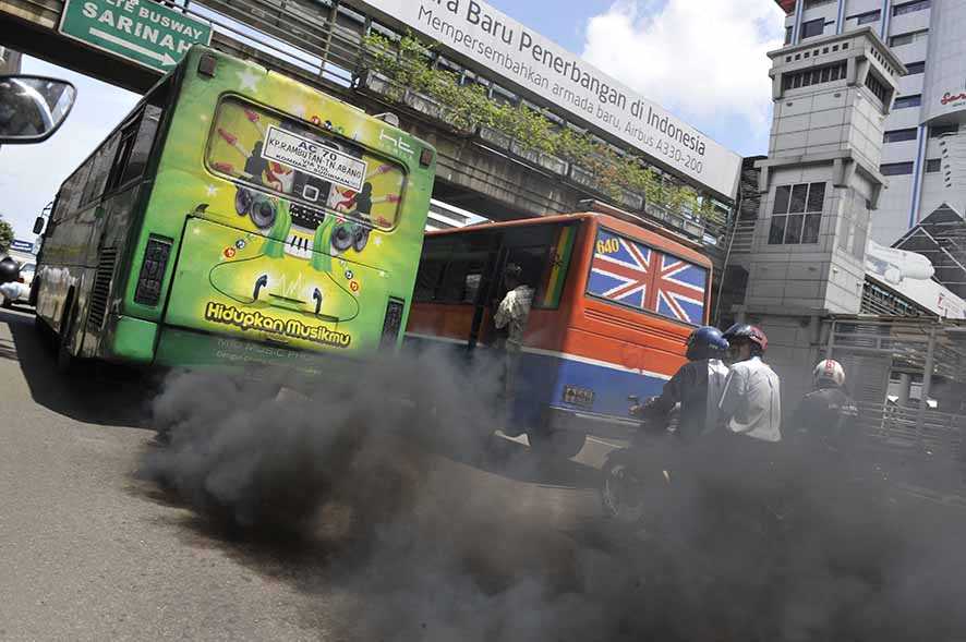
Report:
[{"label": "rightmost motorcyclist, wearing a white helmet and dark clothing", "polygon": [[845,368],[823,359],[812,371],[812,390],[799,402],[792,420],[796,440],[825,451],[842,452],[854,443],[858,408],[845,389]]}]

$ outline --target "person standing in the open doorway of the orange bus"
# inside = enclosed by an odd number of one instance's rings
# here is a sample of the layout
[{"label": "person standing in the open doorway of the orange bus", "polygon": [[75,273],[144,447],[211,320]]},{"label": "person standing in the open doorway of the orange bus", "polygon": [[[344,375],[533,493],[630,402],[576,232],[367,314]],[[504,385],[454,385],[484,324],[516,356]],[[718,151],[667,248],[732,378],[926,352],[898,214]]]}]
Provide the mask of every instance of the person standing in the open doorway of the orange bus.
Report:
[{"label": "person standing in the open doorway of the orange bus", "polygon": [[503,279],[507,293],[493,316],[493,325],[497,330],[503,330],[503,337],[497,343],[503,349],[503,401],[506,422],[509,421],[514,408],[523,330],[527,328],[527,318],[533,305],[534,291],[523,283],[522,272],[522,268],[515,263],[506,265]]}]

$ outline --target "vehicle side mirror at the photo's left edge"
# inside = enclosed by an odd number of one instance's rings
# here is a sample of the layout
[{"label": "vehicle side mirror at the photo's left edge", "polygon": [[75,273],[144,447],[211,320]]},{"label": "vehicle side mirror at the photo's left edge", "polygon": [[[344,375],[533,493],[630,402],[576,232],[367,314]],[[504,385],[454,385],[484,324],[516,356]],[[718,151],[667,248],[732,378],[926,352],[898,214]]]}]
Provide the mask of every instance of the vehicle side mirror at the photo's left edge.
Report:
[{"label": "vehicle side mirror at the photo's left edge", "polygon": [[77,90],[43,76],[0,76],[0,144],[43,143],[60,129]]}]

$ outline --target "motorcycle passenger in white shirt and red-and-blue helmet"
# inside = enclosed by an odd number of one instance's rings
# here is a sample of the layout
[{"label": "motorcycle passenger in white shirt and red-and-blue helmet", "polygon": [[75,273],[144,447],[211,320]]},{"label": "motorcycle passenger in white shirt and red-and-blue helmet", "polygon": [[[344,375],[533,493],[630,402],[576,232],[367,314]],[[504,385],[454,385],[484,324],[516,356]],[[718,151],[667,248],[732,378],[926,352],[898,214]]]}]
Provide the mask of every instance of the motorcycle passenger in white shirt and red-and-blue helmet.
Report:
[{"label": "motorcycle passenger in white shirt and red-and-blue helmet", "polygon": [[759,441],[782,440],[781,381],[761,358],[768,337],[748,324],[735,324],[724,334],[732,362],[719,403],[719,421],[736,435]]}]

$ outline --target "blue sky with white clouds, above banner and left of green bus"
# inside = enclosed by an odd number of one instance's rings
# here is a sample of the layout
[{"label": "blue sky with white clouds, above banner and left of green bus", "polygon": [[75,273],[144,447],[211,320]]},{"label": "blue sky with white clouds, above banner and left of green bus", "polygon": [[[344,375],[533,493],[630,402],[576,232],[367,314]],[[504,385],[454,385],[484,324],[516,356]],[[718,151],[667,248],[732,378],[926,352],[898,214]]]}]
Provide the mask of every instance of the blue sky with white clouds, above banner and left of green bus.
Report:
[{"label": "blue sky with white clouds, above banner and left of green bus", "polygon": [[[488,2],[737,154],[765,153],[771,122],[765,52],[781,47],[784,22],[773,0]],[[77,102],[52,138],[0,147],[5,196],[0,214],[19,239],[31,240],[34,219],[60,183],[138,97],[32,58],[24,58],[23,73],[77,87]]]}]

